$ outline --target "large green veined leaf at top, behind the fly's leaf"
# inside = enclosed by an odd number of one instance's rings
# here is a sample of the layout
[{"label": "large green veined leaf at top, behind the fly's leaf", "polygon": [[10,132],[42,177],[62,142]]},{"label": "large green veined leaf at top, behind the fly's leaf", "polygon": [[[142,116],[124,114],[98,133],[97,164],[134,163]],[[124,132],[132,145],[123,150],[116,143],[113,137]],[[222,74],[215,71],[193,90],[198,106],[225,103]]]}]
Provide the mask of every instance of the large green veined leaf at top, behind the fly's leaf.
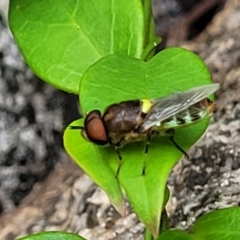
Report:
[{"label": "large green veined leaf at top, behind the fly's leaf", "polygon": [[82,74],[101,57],[140,58],[146,31],[140,0],[11,0],[9,24],[33,71],[74,93]]}]

